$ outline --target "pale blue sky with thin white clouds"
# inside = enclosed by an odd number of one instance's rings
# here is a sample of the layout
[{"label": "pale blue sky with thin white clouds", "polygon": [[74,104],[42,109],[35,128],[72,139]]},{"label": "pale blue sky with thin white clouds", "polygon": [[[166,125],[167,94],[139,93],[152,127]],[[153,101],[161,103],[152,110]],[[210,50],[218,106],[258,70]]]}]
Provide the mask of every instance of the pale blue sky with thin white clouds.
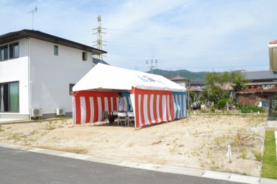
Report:
[{"label": "pale blue sky with thin white clouds", "polygon": [[39,30],[97,48],[100,15],[110,65],[143,72],[269,70],[276,7],[276,0],[0,0],[0,35]]}]

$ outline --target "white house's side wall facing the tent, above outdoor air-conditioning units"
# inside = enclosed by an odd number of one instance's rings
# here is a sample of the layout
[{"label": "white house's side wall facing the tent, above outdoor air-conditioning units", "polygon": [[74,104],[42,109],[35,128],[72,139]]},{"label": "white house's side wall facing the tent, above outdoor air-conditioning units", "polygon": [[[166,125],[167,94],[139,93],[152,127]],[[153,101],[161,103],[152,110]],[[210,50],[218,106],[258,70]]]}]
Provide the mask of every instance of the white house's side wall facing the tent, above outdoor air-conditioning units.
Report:
[{"label": "white house's side wall facing the tent, above outdoor air-conditioning units", "polygon": [[[58,56],[54,55],[58,46]],[[30,108],[42,108],[44,116],[56,108],[72,112],[69,84],[77,83],[92,68],[92,54],[82,61],[83,50],[30,39]]]}]

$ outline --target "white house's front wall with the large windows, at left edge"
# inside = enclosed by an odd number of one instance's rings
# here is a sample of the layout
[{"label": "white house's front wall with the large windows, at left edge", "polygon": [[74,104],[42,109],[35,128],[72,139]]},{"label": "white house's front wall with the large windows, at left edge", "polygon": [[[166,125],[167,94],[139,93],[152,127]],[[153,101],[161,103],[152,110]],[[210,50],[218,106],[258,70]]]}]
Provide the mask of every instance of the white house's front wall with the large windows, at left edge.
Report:
[{"label": "white house's front wall with the large windows, at left edge", "polygon": [[[15,42],[17,41],[10,43]],[[0,83],[14,81],[19,81],[19,112],[1,112],[0,117],[28,118],[28,40],[26,39],[19,40],[19,58],[0,61]]]}]

